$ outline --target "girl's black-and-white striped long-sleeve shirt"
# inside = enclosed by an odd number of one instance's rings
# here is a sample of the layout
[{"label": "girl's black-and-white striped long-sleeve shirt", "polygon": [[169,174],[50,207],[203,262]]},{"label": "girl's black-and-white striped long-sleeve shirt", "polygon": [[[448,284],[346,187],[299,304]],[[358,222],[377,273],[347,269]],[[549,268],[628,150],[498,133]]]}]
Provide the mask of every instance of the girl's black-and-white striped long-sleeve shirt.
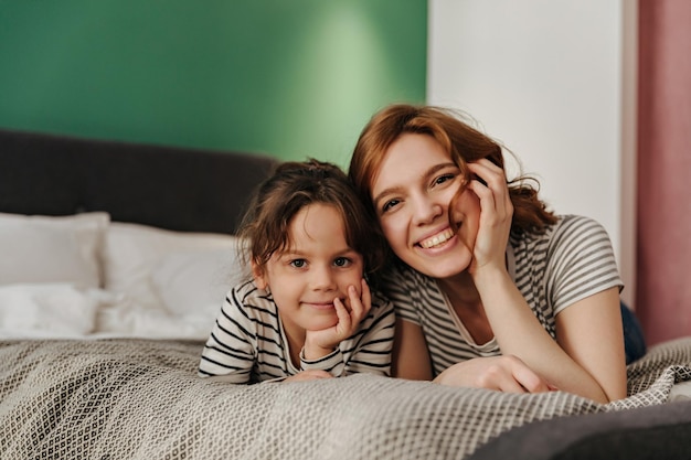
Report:
[{"label": "girl's black-and-white striped long-sleeve shirt", "polygon": [[372,308],[358,330],[327,356],[290,360],[288,341],[272,296],[249,280],[233,288],[202,351],[199,375],[223,376],[224,382],[257,383],[307,370],[334,377],[354,373],[389,375],[395,315],[393,304],[372,292]]}]

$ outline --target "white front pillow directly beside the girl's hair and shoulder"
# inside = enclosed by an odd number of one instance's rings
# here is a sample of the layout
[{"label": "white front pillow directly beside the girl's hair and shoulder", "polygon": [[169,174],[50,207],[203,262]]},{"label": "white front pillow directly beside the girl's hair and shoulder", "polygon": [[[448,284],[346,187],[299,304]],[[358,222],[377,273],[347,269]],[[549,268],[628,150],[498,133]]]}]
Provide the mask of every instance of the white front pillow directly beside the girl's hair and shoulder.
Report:
[{"label": "white front pillow directly beside the girl's hair and shoulder", "polygon": [[231,248],[172,253],[152,277],[168,310],[177,315],[221,309],[231,288],[249,276],[240,261],[240,245]]}]

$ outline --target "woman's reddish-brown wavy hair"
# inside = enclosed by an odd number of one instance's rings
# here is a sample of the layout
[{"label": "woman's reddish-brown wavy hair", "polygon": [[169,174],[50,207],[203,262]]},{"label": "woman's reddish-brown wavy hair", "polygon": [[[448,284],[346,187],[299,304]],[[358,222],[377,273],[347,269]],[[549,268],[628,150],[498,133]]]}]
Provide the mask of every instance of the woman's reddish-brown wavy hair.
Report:
[{"label": "woman's reddish-brown wavy hair", "polygon": [[[386,150],[406,132],[435,138],[466,175],[466,182],[471,179],[466,164],[481,158],[487,158],[504,169],[502,151],[509,150],[472,128],[460,113],[451,109],[407,104],[392,105],[375,114],[358,139],[348,172],[360,200],[368,204],[369,211],[374,213],[372,185]],[[512,232],[540,232],[556,222],[556,216],[538,197],[540,183],[536,179],[520,175],[509,180],[508,185],[513,204]]]}]

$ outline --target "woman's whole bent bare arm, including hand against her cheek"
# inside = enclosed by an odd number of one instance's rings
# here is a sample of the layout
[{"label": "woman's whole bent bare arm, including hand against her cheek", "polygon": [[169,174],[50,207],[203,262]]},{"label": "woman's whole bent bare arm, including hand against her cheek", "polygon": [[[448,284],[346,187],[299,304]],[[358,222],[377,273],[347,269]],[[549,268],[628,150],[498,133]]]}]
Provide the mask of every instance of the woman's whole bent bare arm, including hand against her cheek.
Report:
[{"label": "woman's whole bent bare arm, including hand against her cheek", "polygon": [[[557,314],[555,342],[506,268],[503,247],[513,207],[503,171],[483,160],[469,168],[486,182],[469,185],[481,207],[470,274],[502,354],[520,357],[559,389],[600,403],[626,397],[618,289],[589,296]],[[597,331],[594,324],[599,324]]]}]

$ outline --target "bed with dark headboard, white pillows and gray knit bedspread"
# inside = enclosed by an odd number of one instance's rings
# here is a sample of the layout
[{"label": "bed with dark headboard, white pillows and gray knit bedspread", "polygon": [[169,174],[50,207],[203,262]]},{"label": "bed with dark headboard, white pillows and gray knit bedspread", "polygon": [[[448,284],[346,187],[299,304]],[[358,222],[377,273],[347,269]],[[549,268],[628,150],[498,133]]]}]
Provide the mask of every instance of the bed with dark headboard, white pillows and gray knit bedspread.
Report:
[{"label": "bed with dark headboard, white pillows and gray knit bedspread", "polygon": [[243,276],[237,221],[276,163],[0,129],[0,458],[689,458],[691,338],[607,405],[373,375],[196,376]]}]

